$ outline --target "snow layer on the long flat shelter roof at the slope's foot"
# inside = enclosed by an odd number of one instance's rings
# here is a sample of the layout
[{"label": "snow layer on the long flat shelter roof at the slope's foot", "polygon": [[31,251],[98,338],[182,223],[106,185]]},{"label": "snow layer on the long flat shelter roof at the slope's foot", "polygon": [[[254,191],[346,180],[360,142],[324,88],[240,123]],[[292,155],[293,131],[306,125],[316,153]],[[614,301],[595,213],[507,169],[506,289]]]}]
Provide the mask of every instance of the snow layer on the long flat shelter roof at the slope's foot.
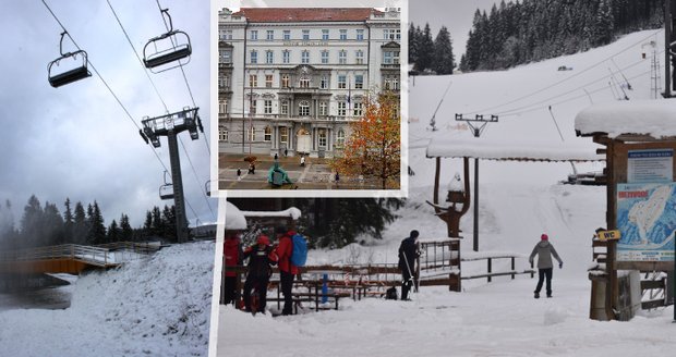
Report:
[{"label": "snow layer on the long flat shelter roof at the slope's foot", "polygon": [[481,138],[433,139],[427,146],[427,158],[478,158],[516,161],[603,161],[604,156],[589,148],[562,144],[523,144]]}]

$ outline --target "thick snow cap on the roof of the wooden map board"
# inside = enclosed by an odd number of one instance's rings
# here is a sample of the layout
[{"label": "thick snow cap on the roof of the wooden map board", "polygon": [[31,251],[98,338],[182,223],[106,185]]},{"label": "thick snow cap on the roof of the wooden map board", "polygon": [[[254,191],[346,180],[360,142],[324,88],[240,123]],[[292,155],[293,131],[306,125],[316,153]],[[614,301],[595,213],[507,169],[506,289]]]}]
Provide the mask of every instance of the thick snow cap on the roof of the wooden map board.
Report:
[{"label": "thick snow cap on the roof of the wooden map board", "polygon": [[654,138],[676,136],[674,99],[615,101],[591,106],[575,118],[578,135],[650,135]]}]

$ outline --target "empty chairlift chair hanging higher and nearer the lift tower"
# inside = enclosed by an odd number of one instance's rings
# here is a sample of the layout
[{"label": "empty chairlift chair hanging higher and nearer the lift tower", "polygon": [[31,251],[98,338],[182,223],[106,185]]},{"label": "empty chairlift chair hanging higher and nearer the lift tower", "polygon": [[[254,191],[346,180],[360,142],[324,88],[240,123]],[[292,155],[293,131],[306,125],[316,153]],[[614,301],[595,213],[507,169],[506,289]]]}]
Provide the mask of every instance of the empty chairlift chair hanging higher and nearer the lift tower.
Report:
[{"label": "empty chairlift chair hanging higher and nearer the lift tower", "polygon": [[[153,73],[160,73],[188,64],[192,54],[190,36],[182,30],[173,29],[169,9],[162,9],[161,14],[169,19],[169,32],[152,38],[143,48],[143,63]],[[178,64],[166,66],[174,62]],[[157,67],[162,69],[157,72],[154,71]]]}]

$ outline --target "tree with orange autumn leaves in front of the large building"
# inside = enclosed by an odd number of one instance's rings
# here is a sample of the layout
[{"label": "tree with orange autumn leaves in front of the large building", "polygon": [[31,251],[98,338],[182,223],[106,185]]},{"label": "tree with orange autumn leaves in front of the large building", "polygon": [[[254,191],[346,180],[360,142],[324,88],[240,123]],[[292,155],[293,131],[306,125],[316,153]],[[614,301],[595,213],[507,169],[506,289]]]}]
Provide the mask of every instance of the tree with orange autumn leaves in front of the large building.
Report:
[{"label": "tree with orange autumn leaves in front of the large building", "polygon": [[399,97],[383,93],[364,102],[364,114],[350,123],[342,157],[331,161],[341,175],[377,178],[383,189],[399,188],[401,173]]}]

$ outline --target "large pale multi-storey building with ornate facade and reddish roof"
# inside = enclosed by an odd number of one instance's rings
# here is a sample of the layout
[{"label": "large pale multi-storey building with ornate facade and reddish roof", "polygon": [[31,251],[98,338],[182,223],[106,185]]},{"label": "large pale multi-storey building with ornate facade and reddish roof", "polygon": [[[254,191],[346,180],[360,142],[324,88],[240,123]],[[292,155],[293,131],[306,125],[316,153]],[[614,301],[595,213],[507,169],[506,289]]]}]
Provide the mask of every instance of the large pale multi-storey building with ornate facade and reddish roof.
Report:
[{"label": "large pale multi-storey building with ornate facade and reddish roof", "polygon": [[219,151],[340,155],[370,94],[399,93],[398,9],[219,12]]}]

